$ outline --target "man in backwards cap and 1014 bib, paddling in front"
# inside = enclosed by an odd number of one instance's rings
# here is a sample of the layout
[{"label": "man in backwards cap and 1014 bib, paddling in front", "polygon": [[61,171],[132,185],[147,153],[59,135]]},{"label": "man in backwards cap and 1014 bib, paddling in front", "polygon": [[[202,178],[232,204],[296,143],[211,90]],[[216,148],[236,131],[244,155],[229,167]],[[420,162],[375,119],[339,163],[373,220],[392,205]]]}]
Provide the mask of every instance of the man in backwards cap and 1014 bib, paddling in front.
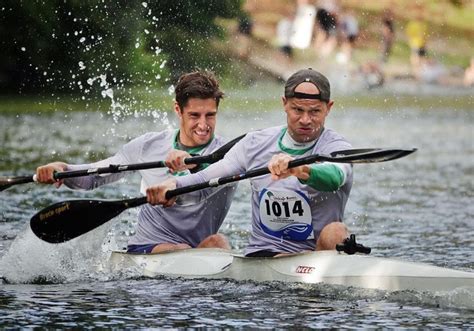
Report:
[{"label": "man in backwards cap and 1014 bib, paddling in front", "polygon": [[288,169],[295,158],[352,148],[342,135],[324,126],[334,104],[329,81],[315,70],[300,70],[286,81],[282,101],[286,125],[248,133],[221,161],[203,171],[150,187],[148,202],[169,206],[173,199],[165,198],[167,190],[268,165],[271,174],[250,180],[252,231],[246,256],[335,249],[348,237],[342,219],[352,166],[318,163]]}]

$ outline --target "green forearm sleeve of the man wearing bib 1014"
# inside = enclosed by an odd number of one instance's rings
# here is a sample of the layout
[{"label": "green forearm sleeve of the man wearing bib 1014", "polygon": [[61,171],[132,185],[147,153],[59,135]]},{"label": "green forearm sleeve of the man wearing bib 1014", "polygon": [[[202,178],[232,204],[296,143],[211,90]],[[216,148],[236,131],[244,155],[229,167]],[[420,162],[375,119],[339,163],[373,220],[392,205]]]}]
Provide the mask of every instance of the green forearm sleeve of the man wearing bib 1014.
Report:
[{"label": "green forearm sleeve of the man wearing bib 1014", "polygon": [[333,192],[344,184],[344,172],[334,164],[313,164],[310,166],[309,178],[300,179],[300,182],[321,192]]}]

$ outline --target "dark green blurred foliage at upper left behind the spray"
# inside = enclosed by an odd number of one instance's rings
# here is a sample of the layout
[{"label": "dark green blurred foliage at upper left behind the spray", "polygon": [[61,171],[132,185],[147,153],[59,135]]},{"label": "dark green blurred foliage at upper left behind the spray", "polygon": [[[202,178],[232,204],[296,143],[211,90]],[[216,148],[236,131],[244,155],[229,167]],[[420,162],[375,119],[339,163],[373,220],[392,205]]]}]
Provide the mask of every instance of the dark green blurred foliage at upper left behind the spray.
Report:
[{"label": "dark green blurred foliage at upper left behind the spray", "polygon": [[[94,86],[163,83],[212,68],[214,23],[235,17],[239,0],[4,0],[0,6],[0,88],[92,93]],[[167,61],[167,62],[165,62]],[[168,65],[164,65],[167,63]]]}]

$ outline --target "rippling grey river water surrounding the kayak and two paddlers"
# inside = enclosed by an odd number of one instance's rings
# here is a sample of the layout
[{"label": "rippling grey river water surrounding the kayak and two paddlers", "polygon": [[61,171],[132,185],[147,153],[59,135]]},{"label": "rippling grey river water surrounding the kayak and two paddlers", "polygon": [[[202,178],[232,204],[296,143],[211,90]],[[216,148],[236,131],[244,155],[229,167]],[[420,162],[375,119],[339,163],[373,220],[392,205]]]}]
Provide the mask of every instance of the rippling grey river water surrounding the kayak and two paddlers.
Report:
[{"label": "rippling grey river water surrounding the kayak and two paddlers", "polygon": [[[230,139],[284,123],[277,99],[281,89],[229,92],[217,132]],[[375,256],[472,271],[472,99],[465,97],[464,107],[449,107],[435,98],[423,105],[377,98],[375,109],[336,103],[327,126],[357,148],[418,151],[392,162],[356,165],[345,223]],[[37,165],[56,159],[90,162],[132,137],[175,123],[173,114],[159,110],[119,120],[116,115],[61,109],[0,114],[0,175],[31,174]],[[29,229],[31,216],[51,203],[134,197],[138,184],[139,178],[130,175],[93,192],[26,184],[0,193],[0,327],[474,328],[472,288],[390,293],[101,271],[110,250],[123,248],[133,232],[136,210],[60,245],[41,242]],[[221,229],[237,252],[250,230],[249,193],[242,182]]]}]

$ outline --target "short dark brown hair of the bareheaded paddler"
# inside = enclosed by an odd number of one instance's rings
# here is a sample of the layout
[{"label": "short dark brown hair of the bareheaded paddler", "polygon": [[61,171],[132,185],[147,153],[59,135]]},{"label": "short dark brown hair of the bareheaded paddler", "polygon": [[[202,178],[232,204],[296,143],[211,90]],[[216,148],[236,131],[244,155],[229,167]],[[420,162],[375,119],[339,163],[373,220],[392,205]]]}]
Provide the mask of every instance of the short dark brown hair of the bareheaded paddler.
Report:
[{"label": "short dark brown hair of the bareheaded paddler", "polygon": [[209,71],[194,71],[179,77],[175,94],[181,111],[191,98],[212,98],[216,100],[216,106],[219,107],[219,101],[224,97],[224,92],[219,89],[216,77]]}]

